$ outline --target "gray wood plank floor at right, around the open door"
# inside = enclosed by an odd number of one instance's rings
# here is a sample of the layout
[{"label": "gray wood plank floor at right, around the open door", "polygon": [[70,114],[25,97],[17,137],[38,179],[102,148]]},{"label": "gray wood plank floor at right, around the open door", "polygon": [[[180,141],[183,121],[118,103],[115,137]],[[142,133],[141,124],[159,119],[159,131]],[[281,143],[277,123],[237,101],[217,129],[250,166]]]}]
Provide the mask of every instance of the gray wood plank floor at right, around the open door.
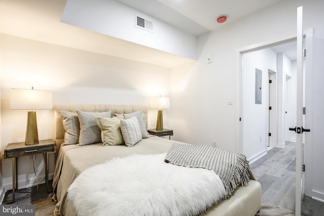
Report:
[{"label": "gray wood plank floor at right, around the open door", "polygon": [[[262,200],[295,212],[296,143],[272,148],[253,162],[251,170],[262,186]],[[303,215],[324,216],[324,203],[305,197]]]}]

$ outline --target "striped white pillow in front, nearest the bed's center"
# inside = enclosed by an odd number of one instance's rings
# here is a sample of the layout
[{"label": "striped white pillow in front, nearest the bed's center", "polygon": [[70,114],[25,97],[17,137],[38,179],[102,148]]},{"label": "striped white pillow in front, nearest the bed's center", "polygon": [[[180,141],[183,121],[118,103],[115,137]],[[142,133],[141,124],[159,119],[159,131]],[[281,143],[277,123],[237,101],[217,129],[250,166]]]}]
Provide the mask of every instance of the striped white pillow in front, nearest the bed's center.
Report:
[{"label": "striped white pillow in front, nearest the bed's center", "polygon": [[120,120],[120,131],[127,146],[134,146],[142,140],[141,128],[137,117]]}]

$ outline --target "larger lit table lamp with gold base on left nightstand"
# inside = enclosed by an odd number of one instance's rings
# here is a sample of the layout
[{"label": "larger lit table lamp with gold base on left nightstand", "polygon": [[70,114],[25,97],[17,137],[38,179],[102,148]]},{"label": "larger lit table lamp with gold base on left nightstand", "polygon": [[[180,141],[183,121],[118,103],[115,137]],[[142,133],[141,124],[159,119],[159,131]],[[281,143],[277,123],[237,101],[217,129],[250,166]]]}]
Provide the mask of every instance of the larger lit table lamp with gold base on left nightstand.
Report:
[{"label": "larger lit table lamp with gold base on left nightstand", "polygon": [[25,145],[38,144],[35,109],[52,109],[52,91],[31,89],[11,89],[11,109],[26,109],[27,127]]}]

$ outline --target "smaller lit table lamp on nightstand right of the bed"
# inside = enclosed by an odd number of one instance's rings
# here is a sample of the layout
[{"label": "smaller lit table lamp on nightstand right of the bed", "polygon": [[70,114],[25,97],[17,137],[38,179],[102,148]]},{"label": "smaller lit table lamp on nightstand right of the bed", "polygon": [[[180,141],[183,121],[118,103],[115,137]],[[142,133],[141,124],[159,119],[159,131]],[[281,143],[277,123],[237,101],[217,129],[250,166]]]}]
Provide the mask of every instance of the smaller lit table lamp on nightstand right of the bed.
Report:
[{"label": "smaller lit table lamp on nightstand right of the bed", "polygon": [[167,97],[150,97],[149,108],[158,109],[156,119],[156,131],[163,131],[163,111],[170,109],[170,98]]}]

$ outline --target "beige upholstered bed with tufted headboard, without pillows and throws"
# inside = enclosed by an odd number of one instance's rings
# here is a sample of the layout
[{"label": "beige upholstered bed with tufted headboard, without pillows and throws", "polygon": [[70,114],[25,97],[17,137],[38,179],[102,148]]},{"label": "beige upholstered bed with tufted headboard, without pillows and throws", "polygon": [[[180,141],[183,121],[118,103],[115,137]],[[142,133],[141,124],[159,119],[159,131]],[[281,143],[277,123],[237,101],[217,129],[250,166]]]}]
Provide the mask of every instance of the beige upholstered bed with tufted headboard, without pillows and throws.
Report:
[{"label": "beige upholstered bed with tufted headboard, without pillows and throws", "polygon": [[[158,155],[167,153],[175,141],[150,136],[136,145],[103,146],[102,142],[91,145],[62,145],[64,130],[62,112],[111,112],[131,114],[143,111],[143,119],[148,119],[147,106],[142,105],[55,105],[55,144],[58,150],[55,174],[53,178],[54,196],[57,201],[54,215],[76,215],[73,201],[68,196],[68,189],[73,181],[90,167],[102,164],[112,158],[130,155]],[[61,114],[60,114],[61,113]],[[66,123],[66,122],[65,122]],[[147,122],[144,121],[145,127]],[[64,125],[65,126],[65,125]],[[261,185],[251,180],[248,185],[241,186],[227,199],[215,204],[201,215],[255,215],[261,208]]]}]

